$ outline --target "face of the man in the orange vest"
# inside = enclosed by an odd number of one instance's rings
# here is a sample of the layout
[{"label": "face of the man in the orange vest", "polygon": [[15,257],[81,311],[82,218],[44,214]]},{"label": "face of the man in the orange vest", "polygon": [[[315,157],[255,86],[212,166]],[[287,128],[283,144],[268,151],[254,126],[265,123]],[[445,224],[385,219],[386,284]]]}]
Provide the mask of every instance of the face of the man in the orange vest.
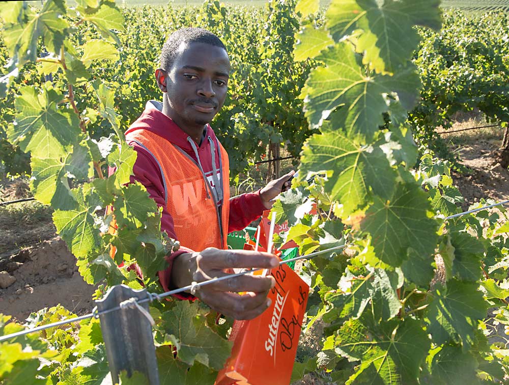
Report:
[{"label": "face of the man in the orange vest", "polygon": [[224,103],[229,73],[230,60],[224,49],[205,43],[182,44],[166,76],[168,116],[183,129],[203,129]]}]

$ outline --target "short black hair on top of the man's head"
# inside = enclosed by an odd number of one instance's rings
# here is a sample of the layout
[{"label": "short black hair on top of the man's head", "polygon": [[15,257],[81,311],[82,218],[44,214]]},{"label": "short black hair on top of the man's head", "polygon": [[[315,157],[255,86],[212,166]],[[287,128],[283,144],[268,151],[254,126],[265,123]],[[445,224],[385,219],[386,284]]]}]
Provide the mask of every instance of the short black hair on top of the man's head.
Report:
[{"label": "short black hair on top of the man's head", "polygon": [[226,50],[221,39],[203,28],[182,28],[169,35],[162,46],[161,68],[169,71],[177,57],[177,51],[182,43],[205,43]]}]

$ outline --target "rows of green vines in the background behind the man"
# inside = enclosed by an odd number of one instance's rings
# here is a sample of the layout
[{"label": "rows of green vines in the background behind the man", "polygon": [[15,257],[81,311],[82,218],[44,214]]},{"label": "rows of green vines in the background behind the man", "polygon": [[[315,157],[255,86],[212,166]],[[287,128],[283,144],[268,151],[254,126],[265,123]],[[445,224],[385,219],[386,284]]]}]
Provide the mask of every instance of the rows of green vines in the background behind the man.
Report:
[{"label": "rows of green vines in the background behind the man", "polygon": [[[148,100],[160,99],[153,72],[167,34],[182,26],[203,26],[216,33],[227,44],[234,72],[229,98],[215,118],[214,128],[230,153],[234,178],[252,168],[252,162],[261,160],[270,142],[284,144],[291,154],[297,155],[303,141],[314,132],[304,120],[298,95],[316,63],[301,61],[299,56],[309,52],[299,50],[295,52],[299,60],[293,61],[292,47],[300,38],[294,36],[296,20],[288,16],[293,6],[292,2],[265,8],[210,2],[203,7],[121,8],[126,28],[119,34],[122,49],[118,60],[110,65],[92,62],[87,68],[90,79],[102,79],[121,90],[115,96],[114,109],[123,117],[120,124],[124,130]],[[453,9],[445,11],[442,18],[444,28],[439,34],[419,30],[422,41],[415,51],[414,63],[423,87],[419,102],[409,114],[409,123],[421,149],[431,148],[439,156],[452,159],[435,127],[449,128],[458,111],[480,111],[488,121],[506,125],[508,20],[503,12],[479,15]],[[317,13],[314,20],[306,21],[306,28],[311,22],[323,23],[323,14]],[[95,36],[97,32],[83,23],[70,40],[79,46]],[[316,37],[313,42],[314,49],[326,44]],[[38,50],[44,52],[41,44]],[[0,64],[5,65],[9,58],[4,40],[0,39]],[[25,64],[11,82],[7,99],[0,104],[1,176],[30,173],[29,157],[6,137],[17,87],[37,85],[51,76],[54,87],[61,91],[66,88],[61,73],[51,72],[50,66],[44,73],[31,63]],[[93,112],[93,87],[84,78],[78,79],[77,85],[76,103],[91,119],[89,132],[96,139],[107,136],[110,126]]]}]

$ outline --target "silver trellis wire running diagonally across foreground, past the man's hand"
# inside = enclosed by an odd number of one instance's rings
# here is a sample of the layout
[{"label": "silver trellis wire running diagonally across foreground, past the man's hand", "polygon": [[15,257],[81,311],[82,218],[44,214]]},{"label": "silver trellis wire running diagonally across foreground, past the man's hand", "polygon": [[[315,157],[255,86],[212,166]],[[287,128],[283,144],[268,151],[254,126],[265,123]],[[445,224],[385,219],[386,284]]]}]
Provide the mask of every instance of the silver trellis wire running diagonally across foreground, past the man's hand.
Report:
[{"label": "silver trellis wire running diagonally across foreground, past the man's hand", "polygon": [[[500,205],[505,205],[505,204],[508,204],[508,203],[509,203],[509,200],[506,200],[506,201],[494,203],[494,204],[489,205],[489,206],[479,207],[479,208],[476,208],[476,209],[473,209],[473,210],[468,210],[468,211],[460,212],[458,214],[446,216],[444,218],[444,220],[453,219],[453,218],[456,218],[458,216],[462,216],[462,215],[466,215],[466,214],[471,214],[471,213],[474,213],[474,212],[477,212],[477,211],[481,211],[481,210],[487,210],[489,208],[500,206]],[[287,263],[290,263],[290,262],[295,262],[295,261],[298,261],[300,259],[313,258],[313,257],[315,257],[317,255],[320,255],[320,254],[325,254],[325,253],[329,253],[329,252],[332,252],[332,251],[344,249],[346,246],[347,246],[346,244],[343,244],[341,246],[335,246],[335,247],[330,248],[330,249],[326,249],[326,250],[310,253],[310,254],[307,254],[307,255],[301,255],[301,256],[298,256],[298,257],[295,257],[295,258],[288,259],[286,261],[279,261],[279,265],[284,265],[284,264],[287,264]],[[245,274],[250,274],[250,273],[252,273],[254,271],[260,271],[260,270],[264,270],[264,268],[258,268],[258,269],[253,269],[253,270],[245,270],[245,271],[241,271],[239,273],[228,274],[227,276],[217,277],[217,278],[213,278],[213,279],[210,279],[210,280],[207,280],[207,281],[203,281],[203,282],[199,282],[199,283],[193,282],[191,285],[187,285],[185,287],[181,287],[181,288],[175,289],[175,290],[166,291],[166,292],[161,293],[161,294],[148,293],[149,294],[148,298],[142,299],[142,300],[138,300],[137,303],[138,304],[143,304],[143,303],[149,302],[149,301],[152,302],[154,299],[157,299],[157,300],[160,301],[162,298],[167,297],[169,295],[179,294],[179,293],[182,293],[182,292],[187,291],[187,290],[196,289],[198,287],[202,287],[202,286],[205,286],[205,285],[210,285],[210,284],[213,284],[213,283],[216,283],[216,282],[220,282],[220,281],[228,280],[228,279],[231,279],[231,278],[236,278],[236,277],[244,276]],[[47,325],[37,326],[37,327],[31,328],[31,329],[25,329],[24,331],[8,334],[8,335],[5,335],[5,336],[0,336],[0,342],[6,341],[6,340],[11,339],[11,338],[20,337],[20,336],[23,336],[25,334],[39,332],[39,331],[42,331],[44,329],[49,329],[51,327],[61,326],[61,325],[64,325],[66,323],[77,322],[77,321],[81,321],[83,319],[92,318],[92,317],[99,318],[99,316],[101,314],[107,314],[107,313],[114,312],[114,311],[117,311],[117,310],[120,310],[120,306],[117,306],[115,308],[111,308],[111,309],[108,309],[108,310],[103,310],[102,312],[98,312],[97,308],[94,308],[92,310],[92,313],[89,313],[89,314],[86,314],[86,315],[82,315],[82,316],[79,316],[79,317],[75,317],[75,318],[71,318],[71,319],[67,319],[67,320],[62,320],[62,321],[58,321],[58,322],[49,323]]]}]

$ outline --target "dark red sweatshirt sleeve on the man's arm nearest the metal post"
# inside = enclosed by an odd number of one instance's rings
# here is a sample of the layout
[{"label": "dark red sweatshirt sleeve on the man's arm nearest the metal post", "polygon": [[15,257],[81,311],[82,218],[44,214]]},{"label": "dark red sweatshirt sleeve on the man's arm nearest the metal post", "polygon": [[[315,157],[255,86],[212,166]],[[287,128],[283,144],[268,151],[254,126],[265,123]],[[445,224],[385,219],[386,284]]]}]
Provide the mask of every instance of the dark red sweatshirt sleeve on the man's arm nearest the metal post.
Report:
[{"label": "dark red sweatshirt sleeve on the man's arm nearest the metal post", "polygon": [[[173,222],[172,215],[166,209],[166,202],[164,196],[164,184],[163,184],[163,176],[161,175],[161,171],[159,169],[159,165],[153,158],[153,156],[147,152],[143,147],[138,146],[135,142],[130,143],[133,146],[134,150],[137,152],[136,162],[133,167],[133,174],[131,176],[131,182],[138,181],[142,183],[149,196],[154,199],[157,206],[162,207],[162,216],[161,216],[161,231],[165,231],[168,234],[168,237],[177,239],[177,235],[175,233],[175,226]],[[173,261],[179,255],[183,253],[192,253],[193,250],[184,248],[180,246],[180,249],[175,253],[172,253],[166,256],[166,262],[168,262],[168,267],[165,270],[161,270],[158,272],[159,282],[164,289],[164,291],[169,291],[172,289],[176,289],[176,287],[172,284],[172,266]],[[194,296],[181,293],[175,295],[181,299],[190,299],[194,298]]]}]

